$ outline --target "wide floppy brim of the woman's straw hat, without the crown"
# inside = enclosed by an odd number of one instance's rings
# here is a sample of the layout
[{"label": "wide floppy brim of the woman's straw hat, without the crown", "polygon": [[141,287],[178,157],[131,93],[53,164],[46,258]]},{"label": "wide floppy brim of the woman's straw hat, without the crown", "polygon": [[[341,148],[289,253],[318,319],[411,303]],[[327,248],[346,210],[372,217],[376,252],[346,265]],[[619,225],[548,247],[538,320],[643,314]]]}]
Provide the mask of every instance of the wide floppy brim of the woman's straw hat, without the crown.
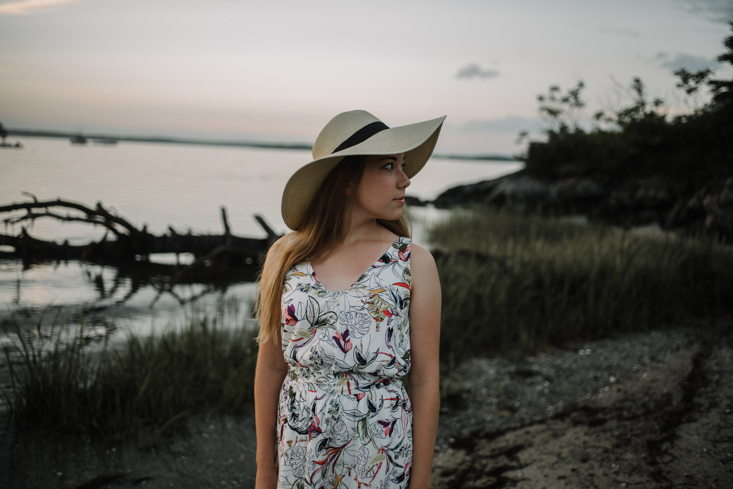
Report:
[{"label": "wide floppy brim of the woman's straw hat, without the crown", "polygon": [[405,174],[412,178],[430,159],[445,119],[446,116],[442,116],[391,127],[377,132],[367,141],[301,166],[290,176],[282,193],[281,212],[285,225],[293,231],[301,228],[306,211],[323,180],[344,157],[356,154],[405,153]]}]

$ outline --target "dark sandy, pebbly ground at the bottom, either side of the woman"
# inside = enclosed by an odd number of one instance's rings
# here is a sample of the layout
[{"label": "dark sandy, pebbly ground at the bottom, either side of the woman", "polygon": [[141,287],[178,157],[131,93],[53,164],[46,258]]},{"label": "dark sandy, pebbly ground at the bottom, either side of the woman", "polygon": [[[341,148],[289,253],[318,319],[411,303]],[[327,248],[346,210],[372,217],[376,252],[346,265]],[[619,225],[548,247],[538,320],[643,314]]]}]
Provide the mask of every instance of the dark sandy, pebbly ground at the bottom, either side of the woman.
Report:
[{"label": "dark sandy, pebbly ground at the bottom, either side of the woman", "polygon": [[[433,488],[733,488],[733,323],[472,359],[441,408]],[[8,488],[250,488],[251,417],[156,449],[0,427]]]}]

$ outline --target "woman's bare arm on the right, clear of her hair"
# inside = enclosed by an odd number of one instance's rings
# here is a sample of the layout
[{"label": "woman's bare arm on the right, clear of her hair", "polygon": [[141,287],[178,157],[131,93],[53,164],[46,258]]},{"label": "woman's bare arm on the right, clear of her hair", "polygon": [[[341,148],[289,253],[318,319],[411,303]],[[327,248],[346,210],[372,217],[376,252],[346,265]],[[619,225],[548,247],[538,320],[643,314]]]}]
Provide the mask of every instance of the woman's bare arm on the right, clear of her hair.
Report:
[{"label": "woman's bare arm on the right, clear of her hair", "polygon": [[438,430],[441,283],[432,255],[412,245],[410,255],[410,403],[413,408],[413,463],[410,489],[429,489]]}]

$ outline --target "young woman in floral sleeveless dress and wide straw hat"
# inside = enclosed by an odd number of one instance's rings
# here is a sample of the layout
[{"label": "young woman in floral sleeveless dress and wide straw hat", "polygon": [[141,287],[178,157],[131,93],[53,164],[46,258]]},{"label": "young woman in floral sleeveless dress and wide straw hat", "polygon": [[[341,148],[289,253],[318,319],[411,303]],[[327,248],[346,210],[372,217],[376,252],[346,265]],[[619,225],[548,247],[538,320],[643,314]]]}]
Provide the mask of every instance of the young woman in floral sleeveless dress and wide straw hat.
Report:
[{"label": "young woman in floral sleeveless dress and wide straw hat", "polygon": [[443,119],[340,113],[287,182],[293,231],[260,279],[255,488],[430,488],[441,290],[402,210]]}]

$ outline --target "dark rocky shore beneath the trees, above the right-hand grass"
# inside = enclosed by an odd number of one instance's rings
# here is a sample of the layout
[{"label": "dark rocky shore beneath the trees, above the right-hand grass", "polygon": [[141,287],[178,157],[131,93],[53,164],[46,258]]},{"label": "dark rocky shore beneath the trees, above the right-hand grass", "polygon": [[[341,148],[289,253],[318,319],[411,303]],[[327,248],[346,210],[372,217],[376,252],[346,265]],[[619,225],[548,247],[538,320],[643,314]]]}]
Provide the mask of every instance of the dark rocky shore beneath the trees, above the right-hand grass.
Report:
[{"label": "dark rocky shore beneath the trees, above the right-hand grass", "polygon": [[631,228],[658,223],[663,229],[733,238],[733,177],[696,186],[663,176],[616,180],[571,177],[543,182],[526,171],[460,185],[432,202],[410,198],[408,204],[448,209],[457,206],[506,206],[523,212],[587,214]]}]

